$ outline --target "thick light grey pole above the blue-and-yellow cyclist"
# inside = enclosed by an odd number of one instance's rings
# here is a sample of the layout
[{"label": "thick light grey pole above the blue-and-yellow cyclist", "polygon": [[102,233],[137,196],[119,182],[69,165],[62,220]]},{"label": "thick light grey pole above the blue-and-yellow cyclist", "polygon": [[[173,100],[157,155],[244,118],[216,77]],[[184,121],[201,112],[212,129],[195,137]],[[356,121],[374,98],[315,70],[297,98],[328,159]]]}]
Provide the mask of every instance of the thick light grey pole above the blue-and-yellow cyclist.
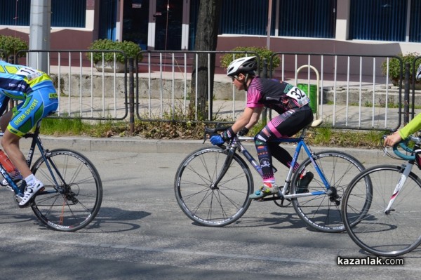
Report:
[{"label": "thick light grey pole above the blue-and-yellow cyclist", "polygon": [[[51,0],[31,0],[29,51],[50,49]],[[29,53],[29,66],[48,72],[48,53]]]}]

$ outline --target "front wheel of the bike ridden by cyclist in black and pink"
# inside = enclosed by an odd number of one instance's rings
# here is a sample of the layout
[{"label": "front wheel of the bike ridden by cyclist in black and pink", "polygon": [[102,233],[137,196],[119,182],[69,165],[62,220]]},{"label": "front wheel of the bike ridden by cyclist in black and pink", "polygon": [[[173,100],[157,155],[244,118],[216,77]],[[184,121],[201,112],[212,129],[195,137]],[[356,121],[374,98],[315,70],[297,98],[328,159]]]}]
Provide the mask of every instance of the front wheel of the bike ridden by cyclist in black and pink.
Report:
[{"label": "front wheel of the bike ridden by cyclist in black and pink", "polygon": [[189,154],[175,174],[175,198],[182,211],[200,225],[222,227],[246,213],[253,193],[253,177],[247,164],[234,154],[227,172],[225,149],[209,147]]}]

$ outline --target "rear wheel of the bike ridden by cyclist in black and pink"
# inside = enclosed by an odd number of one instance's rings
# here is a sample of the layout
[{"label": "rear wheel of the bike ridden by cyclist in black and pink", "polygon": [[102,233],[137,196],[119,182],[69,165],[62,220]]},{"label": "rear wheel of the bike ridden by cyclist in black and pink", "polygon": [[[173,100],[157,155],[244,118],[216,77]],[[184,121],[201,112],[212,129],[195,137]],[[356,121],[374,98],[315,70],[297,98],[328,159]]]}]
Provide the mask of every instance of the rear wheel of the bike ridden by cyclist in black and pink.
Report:
[{"label": "rear wheel of the bike ridden by cyclist in black and pink", "polygon": [[[316,171],[312,159],[308,158],[300,164],[291,181],[291,194],[297,193],[302,171],[312,172],[313,180],[309,183],[311,196],[299,196],[292,200],[295,212],[310,227],[320,232],[342,232],[345,230],[341,218],[340,204],[349,182],[364,166],[354,156],[344,152],[323,151],[313,155],[326,182]],[[330,191],[326,193],[326,183]]]}]

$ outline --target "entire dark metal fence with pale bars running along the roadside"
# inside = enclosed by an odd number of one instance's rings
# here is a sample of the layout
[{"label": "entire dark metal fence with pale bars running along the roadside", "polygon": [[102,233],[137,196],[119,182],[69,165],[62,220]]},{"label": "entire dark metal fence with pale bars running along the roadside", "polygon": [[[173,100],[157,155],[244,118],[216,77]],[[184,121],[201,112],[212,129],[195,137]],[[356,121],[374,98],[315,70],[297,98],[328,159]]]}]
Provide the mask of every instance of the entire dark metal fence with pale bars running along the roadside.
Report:
[{"label": "entire dark metal fence with pale bars running along the roadside", "polygon": [[[221,67],[225,55],[258,55],[243,52],[142,51],[117,70],[119,51],[22,51],[27,55],[16,63],[26,64],[30,53],[46,56],[47,69],[58,88],[60,105],[56,117],[88,120],[232,122],[246,105],[246,93],[238,92]],[[107,67],[105,53],[114,53]],[[100,61],[93,60],[100,54]],[[140,57],[143,59],[140,60]],[[274,58],[280,64],[274,65]],[[206,83],[192,82],[199,59],[205,68]],[[393,62],[393,63],[392,63]],[[397,66],[396,66],[397,62]],[[408,122],[421,107],[421,93],[415,79],[416,65],[406,65],[397,56],[274,53],[269,60],[259,58],[261,76],[300,85],[312,100],[316,118],[324,125],[347,129],[396,129]],[[399,72],[389,79],[391,67]],[[410,72],[412,67],[412,72]],[[272,70],[273,68],[273,70]],[[397,70],[396,70],[397,69]],[[194,78],[196,79],[196,78]],[[197,112],[194,95],[206,88],[206,114]],[[266,116],[266,115],[265,115]],[[267,112],[271,117],[272,112]]]}]

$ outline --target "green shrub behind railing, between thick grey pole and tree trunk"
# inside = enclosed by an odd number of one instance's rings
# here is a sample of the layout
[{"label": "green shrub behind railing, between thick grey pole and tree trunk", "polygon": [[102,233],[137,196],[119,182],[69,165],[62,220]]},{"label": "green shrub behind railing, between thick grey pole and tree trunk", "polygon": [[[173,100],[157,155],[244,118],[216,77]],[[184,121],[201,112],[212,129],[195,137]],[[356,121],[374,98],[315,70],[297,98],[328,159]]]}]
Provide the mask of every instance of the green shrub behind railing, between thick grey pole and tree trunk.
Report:
[{"label": "green shrub behind railing, between thick grey pole and tree trunk", "polygon": [[[91,51],[123,51],[126,53],[127,58],[135,58],[136,55],[142,48],[132,41],[112,41],[109,39],[99,39],[93,41],[91,46],[88,48]],[[116,61],[124,63],[124,55],[122,53],[115,53],[116,54]],[[91,60],[91,53],[86,54],[88,59]],[[102,53],[101,52],[94,52],[93,55],[93,62],[100,62],[102,61]],[[104,60],[105,61],[114,61],[114,52],[105,52],[104,53]],[[142,54],[139,55],[139,61],[142,60]]]}]

